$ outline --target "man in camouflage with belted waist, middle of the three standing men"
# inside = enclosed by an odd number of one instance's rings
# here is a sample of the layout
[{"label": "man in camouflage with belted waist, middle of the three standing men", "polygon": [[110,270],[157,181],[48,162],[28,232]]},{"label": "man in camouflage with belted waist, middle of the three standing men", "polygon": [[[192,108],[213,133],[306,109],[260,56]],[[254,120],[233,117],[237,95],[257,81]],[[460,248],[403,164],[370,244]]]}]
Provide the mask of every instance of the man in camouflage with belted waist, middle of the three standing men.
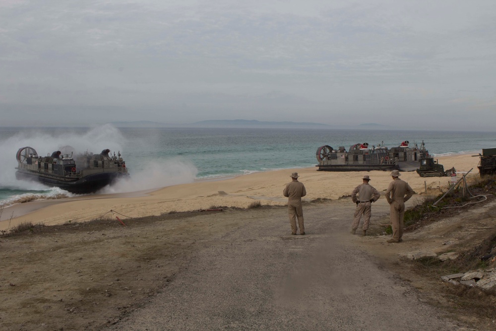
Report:
[{"label": "man in camouflage with belted waist, middle of the three standing men", "polygon": [[358,225],[360,224],[360,218],[364,215],[362,235],[367,235],[367,230],[369,229],[369,224],[371,221],[372,202],[375,202],[380,198],[380,193],[369,185],[370,180],[369,175],[365,175],[363,178],[364,183],[357,186],[351,193],[351,199],[357,204],[357,209],[353,215],[353,223],[351,225],[352,234],[356,233]]}]

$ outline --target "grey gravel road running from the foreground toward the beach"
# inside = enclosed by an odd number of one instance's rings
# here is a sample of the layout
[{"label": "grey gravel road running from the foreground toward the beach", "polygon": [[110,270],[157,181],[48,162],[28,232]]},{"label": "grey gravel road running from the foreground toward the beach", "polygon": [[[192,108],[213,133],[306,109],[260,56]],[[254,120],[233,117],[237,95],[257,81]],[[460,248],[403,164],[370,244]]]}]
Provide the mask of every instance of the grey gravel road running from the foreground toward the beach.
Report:
[{"label": "grey gravel road running from the foreground toward the beach", "polygon": [[359,248],[353,210],[304,207],[304,236],[290,235],[286,214],[237,214],[241,227],[215,233],[164,292],[108,330],[457,330]]}]

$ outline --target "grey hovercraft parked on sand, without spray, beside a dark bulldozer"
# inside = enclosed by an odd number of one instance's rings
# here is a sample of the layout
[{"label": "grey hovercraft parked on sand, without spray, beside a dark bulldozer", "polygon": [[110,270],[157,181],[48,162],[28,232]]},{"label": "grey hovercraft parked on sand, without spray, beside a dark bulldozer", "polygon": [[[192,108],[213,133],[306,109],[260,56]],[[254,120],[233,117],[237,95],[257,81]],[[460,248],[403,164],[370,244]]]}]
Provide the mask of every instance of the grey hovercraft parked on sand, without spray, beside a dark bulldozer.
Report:
[{"label": "grey hovercraft parked on sand, without spray, beside a dark bulldozer", "polygon": [[370,146],[367,142],[352,145],[348,151],[340,146],[337,149],[329,145],[320,146],[316,152],[318,171],[371,171],[400,170],[415,171],[420,160],[428,158],[424,141],[419,148],[416,143],[410,147],[405,140],[398,147],[384,147],[384,143]]}]

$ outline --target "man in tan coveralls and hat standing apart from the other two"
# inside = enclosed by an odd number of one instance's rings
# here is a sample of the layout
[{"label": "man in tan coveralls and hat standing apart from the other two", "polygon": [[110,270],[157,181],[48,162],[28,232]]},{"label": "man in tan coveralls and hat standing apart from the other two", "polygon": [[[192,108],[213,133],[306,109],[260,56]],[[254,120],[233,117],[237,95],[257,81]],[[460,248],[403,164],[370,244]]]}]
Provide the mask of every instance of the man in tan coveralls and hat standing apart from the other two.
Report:
[{"label": "man in tan coveralls and hat standing apart from the other two", "polygon": [[294,172],[290,176],[293,180],[286,184],[283,195],[288,198],[288,212],[289,221],[291,223],[291,234],[296,235],[298,230],[296,227],[296,217],[298,217],[298,225],[300,227],[300,234],[305,234],[305,225],[303,224],[303,206],[302,197],[307,195],[305,185],[298,182],[298,173]]}]

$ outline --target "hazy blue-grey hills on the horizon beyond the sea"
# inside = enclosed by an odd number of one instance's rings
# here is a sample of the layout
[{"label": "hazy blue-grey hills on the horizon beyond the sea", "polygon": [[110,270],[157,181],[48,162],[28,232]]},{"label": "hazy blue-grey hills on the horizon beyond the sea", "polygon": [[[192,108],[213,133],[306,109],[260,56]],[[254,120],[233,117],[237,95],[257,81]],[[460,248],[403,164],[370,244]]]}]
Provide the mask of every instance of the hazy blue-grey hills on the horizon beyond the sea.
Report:
[{"label": "hazy blue-grey hills on the horizon beyond the sea", "polygon": [[390,126],[365,123],[356,126],[328,125],[311,122],[274,122],[256,120],[207,120],[184,124],[169,124],[152,121],[134,122],[111,122],[118,128],[264,128],[264,129],[349,129],[349,130],[373,130],[391,129]]}]

